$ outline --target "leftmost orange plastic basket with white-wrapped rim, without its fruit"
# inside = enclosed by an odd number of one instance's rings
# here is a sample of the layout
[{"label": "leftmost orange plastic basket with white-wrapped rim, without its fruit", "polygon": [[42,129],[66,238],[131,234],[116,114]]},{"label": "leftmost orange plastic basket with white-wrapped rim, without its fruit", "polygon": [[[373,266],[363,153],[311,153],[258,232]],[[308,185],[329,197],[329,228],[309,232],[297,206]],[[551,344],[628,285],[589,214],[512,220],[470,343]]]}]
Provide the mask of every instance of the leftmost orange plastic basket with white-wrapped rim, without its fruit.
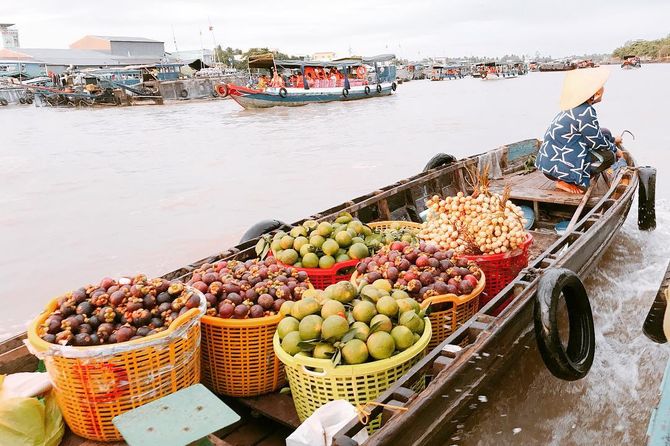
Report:
[{"label": "leftmost orange plastic basket with white-wrapped rim, without its fruit", "polygon": [[112,418],[200,381],[200,308],[175,319],[167,330],[142,339],[95,347],[48,343],[38,329],[57,308],[47,305],[28,328],[33,352],[44,360],[58,406],[70,429],[95,441],[121,440]]}]

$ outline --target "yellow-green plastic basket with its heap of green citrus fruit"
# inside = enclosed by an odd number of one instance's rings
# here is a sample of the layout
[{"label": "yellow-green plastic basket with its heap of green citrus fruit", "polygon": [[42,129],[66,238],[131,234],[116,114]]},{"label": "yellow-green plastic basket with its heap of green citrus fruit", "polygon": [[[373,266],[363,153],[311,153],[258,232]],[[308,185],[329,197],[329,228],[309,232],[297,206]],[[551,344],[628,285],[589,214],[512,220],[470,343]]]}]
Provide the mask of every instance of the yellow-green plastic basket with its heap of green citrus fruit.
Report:
[{"label": "yellow-green plastic basket with its heap of green citrus fruit", "polygon": [[[416,300],[391,296],[391,290],[386,280],[360,293],[341,281],[284,303],[274,350],[301,421],[329,401],[374,401],[423,357],[431,324]],[[424,385],[423,379],[415,383],[417,390]],[[373,420],[369,429],[380,423]]]}]

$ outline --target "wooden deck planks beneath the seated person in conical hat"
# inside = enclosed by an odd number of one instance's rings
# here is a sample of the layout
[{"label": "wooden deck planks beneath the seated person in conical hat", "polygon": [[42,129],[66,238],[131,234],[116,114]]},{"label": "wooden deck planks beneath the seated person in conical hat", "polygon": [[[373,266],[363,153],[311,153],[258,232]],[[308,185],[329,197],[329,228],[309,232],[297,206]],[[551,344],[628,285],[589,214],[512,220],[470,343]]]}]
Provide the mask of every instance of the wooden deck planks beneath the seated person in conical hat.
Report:
[{"label": "wooden deck planks beneath the seated person in conical hat", "polygon": [[[513,200],[535,201],[538,203],[556,203],[567,206],[579,206],[582,195],[570,194],[556,189],[554,181],[545,177],[538,170],[524,174],[523,172],[506,176],[499,180],[491,180],[491,190],[502,193],[505,185],[512,187]],[[596,189],[589,198],[588,205],[595,205],[607,192],[607,185],[602,179],[596,183]]]}]

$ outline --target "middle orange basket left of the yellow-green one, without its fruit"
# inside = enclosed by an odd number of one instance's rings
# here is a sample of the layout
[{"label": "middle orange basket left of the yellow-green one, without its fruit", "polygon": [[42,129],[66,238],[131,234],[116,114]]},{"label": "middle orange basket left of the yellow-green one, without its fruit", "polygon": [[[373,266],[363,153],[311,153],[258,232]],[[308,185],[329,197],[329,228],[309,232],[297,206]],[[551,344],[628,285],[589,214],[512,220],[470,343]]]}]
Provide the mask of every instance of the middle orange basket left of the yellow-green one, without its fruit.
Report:
[{"label": "middle orange basket left of the yellow-green one, without its fruit", "polygon": [[272,349],[281,314],[257,319],[202,318],[202,382],[213,392],[247,397],[286,382]]}]

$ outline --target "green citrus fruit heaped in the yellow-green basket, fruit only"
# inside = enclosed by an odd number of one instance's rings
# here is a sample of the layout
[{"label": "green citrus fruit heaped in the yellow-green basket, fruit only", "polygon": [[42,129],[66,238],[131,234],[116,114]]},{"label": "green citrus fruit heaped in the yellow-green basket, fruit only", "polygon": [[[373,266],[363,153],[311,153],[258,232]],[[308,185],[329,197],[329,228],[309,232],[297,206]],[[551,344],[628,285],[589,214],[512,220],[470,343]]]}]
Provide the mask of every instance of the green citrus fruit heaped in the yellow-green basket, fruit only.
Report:
[{"label": "green citrus fruit heaped in the yellow-green basket, fruit only", "polygon": [[383,279],[360,292],[347,281],[307,290],[280,312],[285,317],[277,334],[285,352],[336,365],[389,358],[412,347],[426,326],[418,302]]}]

